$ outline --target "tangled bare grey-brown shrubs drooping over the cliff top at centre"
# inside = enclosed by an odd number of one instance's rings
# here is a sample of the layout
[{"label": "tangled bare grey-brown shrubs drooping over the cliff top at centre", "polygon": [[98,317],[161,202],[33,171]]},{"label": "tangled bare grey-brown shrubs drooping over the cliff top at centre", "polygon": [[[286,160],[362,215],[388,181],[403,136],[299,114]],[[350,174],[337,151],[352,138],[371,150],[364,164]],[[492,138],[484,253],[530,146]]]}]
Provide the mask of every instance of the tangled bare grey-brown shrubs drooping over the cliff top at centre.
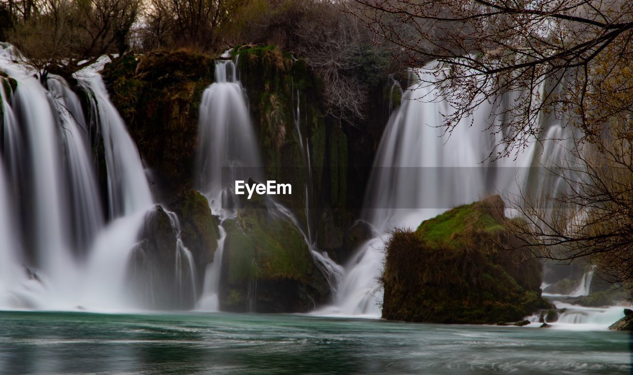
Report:
[{"label": "tangled bare grey-brown shrubs drooping over the cliff top at centre", "polygon": [[260,12],[242,18],[234,41],[276,44],[296,53],[323,79],[323,108],[330,117],[351,124],[365,118],[372,83],[355,71],[364,65],[382,74],[389,67],[367,27],[327,0],[283,0],[255,8]]}]

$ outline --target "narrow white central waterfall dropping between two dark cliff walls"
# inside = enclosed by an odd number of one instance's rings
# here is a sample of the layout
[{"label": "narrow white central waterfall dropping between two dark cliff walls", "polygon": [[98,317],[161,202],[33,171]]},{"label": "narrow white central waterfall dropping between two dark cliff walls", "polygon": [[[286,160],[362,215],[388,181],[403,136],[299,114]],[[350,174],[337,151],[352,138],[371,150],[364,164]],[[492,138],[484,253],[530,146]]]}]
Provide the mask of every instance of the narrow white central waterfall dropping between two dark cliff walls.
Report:
[{"label": "narrow white central waterfall dropping between two dark cliff walls", "polygon": [[261,181],[260,151],[249,117],[244,88],[237,80],[236,63],[215,63],[215,82],[202,96],[198,120],[199,146],[196,158],[197,189],[206,196],[211,212],[220,215],[220,238],[213,263],[204,275],[198,307],[218,311],[220,270],[226,232],[222,222],[234,215],[235,180]]}]

